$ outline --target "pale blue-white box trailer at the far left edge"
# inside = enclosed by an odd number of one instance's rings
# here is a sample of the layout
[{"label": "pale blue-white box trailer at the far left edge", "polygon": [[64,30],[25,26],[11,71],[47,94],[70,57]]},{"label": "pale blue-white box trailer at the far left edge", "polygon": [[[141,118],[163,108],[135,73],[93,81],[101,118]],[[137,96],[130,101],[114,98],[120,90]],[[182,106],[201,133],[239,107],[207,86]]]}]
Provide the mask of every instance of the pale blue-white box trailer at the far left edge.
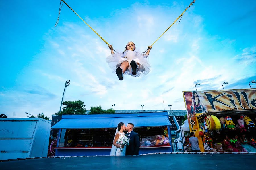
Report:
[{"label": "pale blue-white box trailer at the far left edge", "polygon": [[0,160],[47,156],[51,121],[0,118]]}]

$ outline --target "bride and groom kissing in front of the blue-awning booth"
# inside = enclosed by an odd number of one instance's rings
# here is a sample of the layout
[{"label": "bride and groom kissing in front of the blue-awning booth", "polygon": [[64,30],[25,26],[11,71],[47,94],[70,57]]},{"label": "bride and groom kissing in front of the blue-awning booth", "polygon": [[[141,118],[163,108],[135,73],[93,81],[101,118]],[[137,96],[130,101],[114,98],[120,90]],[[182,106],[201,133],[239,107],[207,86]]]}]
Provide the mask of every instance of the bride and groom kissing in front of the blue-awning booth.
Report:
[{"label": "bride and groom kissing in front of the blue-awning booth", "polygon": [[[139,154],[139,134],[134,132],[133,128],[134,124],[132,123],[128,123],[127,126],[123,122],[118,124],[110,155],[125,156]],[[127,133],[125,134],[123,131],[127,131]]]}]

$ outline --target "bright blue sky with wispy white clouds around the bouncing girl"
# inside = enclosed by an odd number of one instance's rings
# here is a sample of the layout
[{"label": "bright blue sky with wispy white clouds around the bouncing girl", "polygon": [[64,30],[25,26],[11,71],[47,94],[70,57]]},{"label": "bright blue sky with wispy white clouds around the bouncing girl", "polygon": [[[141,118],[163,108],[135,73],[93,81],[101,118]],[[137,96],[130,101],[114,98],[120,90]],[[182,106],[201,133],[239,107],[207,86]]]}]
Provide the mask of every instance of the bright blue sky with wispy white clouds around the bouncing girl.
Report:
[{"label": "bright blue sky with wispy white clouds around the bouncing girl", "polygon": [[[128,41],[146,50],[183,12],[183,1],[66,2],[118,51]],[[148,57],[145,78],[125,75],[107,65],[108,46],[59,1],[2,1],[0,114],[51,116],[65,100],[86,108],[185,109],[182,91],[249,88],[256,80],[256,2],[197,0],[158,40]],[[255,84],[252,84],[256,88]]]}]

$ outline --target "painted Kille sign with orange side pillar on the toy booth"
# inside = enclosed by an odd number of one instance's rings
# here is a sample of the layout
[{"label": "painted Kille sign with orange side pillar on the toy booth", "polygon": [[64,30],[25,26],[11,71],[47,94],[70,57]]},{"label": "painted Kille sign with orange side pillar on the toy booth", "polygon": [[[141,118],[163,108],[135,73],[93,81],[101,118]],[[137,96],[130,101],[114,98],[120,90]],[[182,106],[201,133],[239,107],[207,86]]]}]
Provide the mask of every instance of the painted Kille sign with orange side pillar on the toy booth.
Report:
[{"label": "painted Kille sign with orange side pillar on the toy booth", "polygon": [[[190,131],[199,137],[198,120],[209,114],[248,112],[256,109],[256,89],[183,92]],[[239,112],[238,112],[239,111]],[[199,139],[199,145],[202,140]]]}]

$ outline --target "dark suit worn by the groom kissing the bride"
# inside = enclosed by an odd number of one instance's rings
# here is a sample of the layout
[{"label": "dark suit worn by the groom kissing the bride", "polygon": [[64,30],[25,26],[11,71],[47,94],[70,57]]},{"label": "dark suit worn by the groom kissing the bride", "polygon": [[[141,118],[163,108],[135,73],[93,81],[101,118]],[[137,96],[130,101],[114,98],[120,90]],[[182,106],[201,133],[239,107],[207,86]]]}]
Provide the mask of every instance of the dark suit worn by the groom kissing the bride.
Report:
[{"label": "dark suit worn by the groom kissing the bride", "polygon": [[[126,135],[129,136],[129,133]],[[138,155],[139,154],[139,149],[140,149],[140,139],[139,139],[139,134],[131,131],[129,145],[126,146],[126,154],[125,155]]]}]

